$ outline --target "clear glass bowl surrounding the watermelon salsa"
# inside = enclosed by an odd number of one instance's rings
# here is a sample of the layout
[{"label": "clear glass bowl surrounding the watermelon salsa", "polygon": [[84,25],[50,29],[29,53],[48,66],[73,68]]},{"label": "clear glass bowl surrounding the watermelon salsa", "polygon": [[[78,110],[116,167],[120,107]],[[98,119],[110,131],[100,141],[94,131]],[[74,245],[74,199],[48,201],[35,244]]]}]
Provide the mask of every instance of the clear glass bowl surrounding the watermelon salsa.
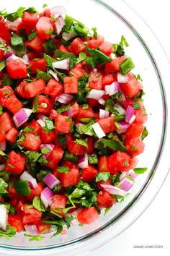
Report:
[{"label": "clear glass bowl surrounding the watermelon salsa", "polygon": [[[15,11],[19,7],[42,9],[41,0],[3,1],[1,9]],[[55,3],[45,0],[48,7]],[[112,43],[120,42],[124,35],[129,43],[125,54],[135,63],[134,74],[143,78],[145,91],[144,104],[148,113],[146,127],[148,137],[146,148],[140,155],[138,167],[147,167],[145,174],[135,179],[130,195],[121,204],[112,207],[104,216],[90,225],[71,226],[67,233],[43,241],[30,242],[23,234],[6,240],[0,239],[0,252],[12,255],[80,255],[101,246],[128,228],[150,205],[169,172],[168,159],[169,121],[168,104],[170,95],[167,90],[169,61],[156,36],[146,23],[121,0],[58,0],[57,5],[66,8],[67,13],[80,20],[86,27],[97,27],[99,34]]]}]

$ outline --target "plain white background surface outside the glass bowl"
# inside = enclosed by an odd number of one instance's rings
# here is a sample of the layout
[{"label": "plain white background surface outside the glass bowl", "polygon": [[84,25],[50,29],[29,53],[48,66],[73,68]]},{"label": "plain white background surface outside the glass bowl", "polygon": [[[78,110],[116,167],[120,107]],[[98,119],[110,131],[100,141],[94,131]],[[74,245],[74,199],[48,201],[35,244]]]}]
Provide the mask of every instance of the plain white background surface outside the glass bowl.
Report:
[{"label": "plain white background surface outside the glass bowl", "polygon": [[[125,2],[133,7],[151,27],[170,59],[169,0],[125,0]],[[169,184],[170,174],[155,200],[130,228],[107,244],[89,252],[87,256],[106,254],[107,256],[169,256]],[[163,249],[137,249],[134,248],[135,245],[161,245]]]}]

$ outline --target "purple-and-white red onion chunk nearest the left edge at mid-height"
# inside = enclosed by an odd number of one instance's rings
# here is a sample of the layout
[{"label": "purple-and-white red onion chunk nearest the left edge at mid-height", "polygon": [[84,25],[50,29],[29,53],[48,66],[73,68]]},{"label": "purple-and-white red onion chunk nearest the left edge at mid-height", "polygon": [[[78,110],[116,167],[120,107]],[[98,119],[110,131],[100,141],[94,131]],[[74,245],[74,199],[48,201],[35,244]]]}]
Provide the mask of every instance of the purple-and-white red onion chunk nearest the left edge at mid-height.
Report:
[{"label": "purple-and-white red onion chunk nearest the left edge at mid-height", "polygon": [[22,124],[24,124],[27,119],[29,119],[29,116],[32,114],[32,109],[30,108],[21,108],[16,114],[13,116],[13,121],[15,126],[18,128]]}]

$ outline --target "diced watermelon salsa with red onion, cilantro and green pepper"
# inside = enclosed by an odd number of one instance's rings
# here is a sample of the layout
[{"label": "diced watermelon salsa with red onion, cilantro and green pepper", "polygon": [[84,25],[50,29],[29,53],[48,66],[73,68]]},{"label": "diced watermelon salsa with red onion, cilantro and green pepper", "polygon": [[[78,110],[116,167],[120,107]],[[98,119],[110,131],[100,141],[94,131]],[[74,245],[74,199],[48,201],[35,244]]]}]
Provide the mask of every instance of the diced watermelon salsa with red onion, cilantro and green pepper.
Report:
[{"label": "diced watermelon salsa with red onion, cilantro and green pepper", "polygon": [[125,46],[64,7],[0,12],[0,236],[93,223],[146,171],[143,85]]}]

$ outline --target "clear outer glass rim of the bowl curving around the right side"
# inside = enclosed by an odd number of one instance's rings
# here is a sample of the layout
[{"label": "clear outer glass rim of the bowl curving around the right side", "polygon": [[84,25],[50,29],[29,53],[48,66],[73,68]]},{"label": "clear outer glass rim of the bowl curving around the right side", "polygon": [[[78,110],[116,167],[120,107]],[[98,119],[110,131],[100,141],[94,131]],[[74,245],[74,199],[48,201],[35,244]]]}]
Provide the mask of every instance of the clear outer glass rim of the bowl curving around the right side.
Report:
[{"label": "clear outer glass rim of the bowl curving around the right side", "polygon": [[[150,205],[153,199],[156,197],[159,189],[161,189],[162,184],[164,184],[164,180],[166,179],[166,176],[169,173],[169,166],[170,166],[169,163],[166,163],[166,166],[164,165],[164,168],[166,169],[164,175],[161,176],[160,170],[157,170],[158,166],[160,169],[161,168],[160,166],[162,166],[162,163],[164,161],[167,161],[166,155],[169,150],[168,141],[170,141],[169,113],[168,113],[170,95],[166,90],[166,85],[168,84],[168,81],[169,81],[167,76],[167,73],[168,73],[167,70],[169,69],[170,71],[170,66],[169,66],[169,61],[164,52],[164,49],[161,47],[161,44],[158,42],[158,39],[156,38],[156,35],[154,35],[154,33],[151,31],[151,28],[148,27],[146,22],[144,22],[144,20],[142,20],[142,18],[123,0],[111,0],[111,1],[105,0],[104,2],[100,0],[92,0],[92,1],[101,4],[104,8],[111,9],[112,12],[114,12],[116,15],[119,15],[124,22],[126,22],[133,30],[135,30],[135,33],[140,38],[140,41],[145,44],[146,51],[148,51],[148,48],[151,49],[151,47],[149,47],[149,42],[148,42],[148,39],[146,38],[146,33],[144,32],[145,30],[150,31],[152,39],[154,40],[154,43],[156,43],[156,46],[158,47],[157,52],[156,51],[153,52],[153,49],[152,49],[152,51],[149,51],[149,54],[153,62],[153,65],[156,67],[158,78],[161,82],[161,87],[162,87],[162,98],[164,99],[163,102],[164,102],[164,113],[165,113],[165,116],[164,116],[165,126],[162,131],[162,140],[159,148],[160,157],[157,159],[157,161],[155,161],[154,171],[151,172],[150,176],[148,176],[148,180],[146,181],[145,186],[142,189],[140,189],[140,192],[133,199],[133,201],[131,201],[128,204],[128,207],[125,208],[125,210],[123,210],[123,212],[117,219],[114,219],[114,221],[111,221],[110,223],[107,223],[107,225],[102,226],[102,228],[100,228],[99,230],[91,232],[89,235],[84,236],[81,239],[73,240],[73,242],[71,241],[61,246],[56,245],[53,247],[49,246],[46,248],[44,247],[42,248],[24,247],[23,248],[23,247],[4,246],[0,244],[0,248],[2,248],[2,250],[0,249],[0,252],[13,253],[13,254],[19,253],[19,255],[22,255],[22,253],[24,252],[24,254],[27,255],[27,253],[31,253],[32,251],[34,252],[35,255],[39,255],[39,254],[42,255],[45,253],[50,254],[53,252],[55,253],[66,252],[67,250],[69,251],[73,250],[74,252],[74,250],[76,249],[76,247],[80,242],[81,242],[81,245],[79,246],[80,251],[86,251],[86,250],[89,251],[91,248],[94,249],[99,245],[101,246],[101,242],[97,242],[97,240],[102,241],[102,244],[104,244],[104,242],[108,242],[110,239],[113,239],[115,236],[121,234],[122,231],[125,231],[125,229],[127,229],[128,226],[130,226],[134,221],[136,221],[136,219],[140,217],[140,215],[146,210],[146,208],[148,208],[148,205]],[[139,31],[139,29],[138,30],[135,29],[136,20],[138,20],[138,23],[137,23],[138,27],[141,26],[143,28],[141,30],[142,32]],[[156,60],[158,60],[158,51],[160,51],[161,58],[164,58],[164,64],[165,66],[167,66],[166,70],[165,70],[165,67],[160,67],[158,65],[158,62],[156,62]],[[138,202],[138,204],[136,204],[136,202]],[[133,213],[133,220],[127,223],[127,218],[125,217],[125,213],[126,215],[128,214],[128,216]],[[125,221],[125,218],[126,218],[126,221]],[[117,224],[120,223],[120,220],[121,220],[120,229],[119,231],[117,231],[117,234],[112,236],[112,231],[111,231],[112,225],[113,223],[115,224],[116,222]],[[93,245],[89,246],[90,244],[89,240],[91,239],[91,237],[93,237]],[[87,243],[89,247],[88,249],[86,246]],[[74,252],[73,255],[76,255],[76,252]]]}]

